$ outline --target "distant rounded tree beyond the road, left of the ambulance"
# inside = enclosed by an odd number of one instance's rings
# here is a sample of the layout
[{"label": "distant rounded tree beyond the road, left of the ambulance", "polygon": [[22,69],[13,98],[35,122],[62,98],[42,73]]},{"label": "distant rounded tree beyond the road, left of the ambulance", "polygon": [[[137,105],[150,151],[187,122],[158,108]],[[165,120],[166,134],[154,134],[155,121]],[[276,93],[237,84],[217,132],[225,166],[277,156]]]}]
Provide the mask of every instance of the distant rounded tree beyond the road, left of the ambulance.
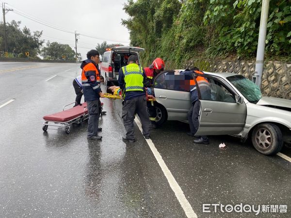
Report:
[{"label": "distant rounded tree beyond the road, left of the ambulance", "polygon": [[[48,42],[47,47],[41,50],[41,56],[49,60],[65,60],[75,61],[76,52],[67,44],[60,44],[58,42]],[[81,54],[78,53],[80,60]]]}]

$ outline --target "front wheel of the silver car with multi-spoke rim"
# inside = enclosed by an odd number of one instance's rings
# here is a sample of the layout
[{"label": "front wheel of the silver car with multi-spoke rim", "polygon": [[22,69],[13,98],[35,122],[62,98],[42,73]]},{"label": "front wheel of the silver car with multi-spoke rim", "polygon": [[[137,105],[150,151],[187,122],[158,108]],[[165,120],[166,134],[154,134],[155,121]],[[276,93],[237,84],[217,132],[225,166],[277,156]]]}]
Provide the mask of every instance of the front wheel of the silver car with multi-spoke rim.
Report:
[{"label": "front wheel of the silver car with multi-spoke rim", "polygon": [[252,133],[252,143],[264,155],[275,155],[283,147],[280,128],[274,124],[259,124]]}]

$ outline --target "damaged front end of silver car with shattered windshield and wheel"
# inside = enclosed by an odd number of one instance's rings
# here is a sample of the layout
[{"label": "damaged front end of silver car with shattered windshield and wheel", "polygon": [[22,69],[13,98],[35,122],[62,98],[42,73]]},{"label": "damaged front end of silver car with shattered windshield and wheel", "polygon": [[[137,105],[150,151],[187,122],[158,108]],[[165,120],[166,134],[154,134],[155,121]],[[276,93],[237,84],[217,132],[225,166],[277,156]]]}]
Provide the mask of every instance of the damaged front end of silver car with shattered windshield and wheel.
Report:
[{"label": "damaged front end of silver car with shattered windshield and wheel", "polygon": [[262,96],[259,87],[242,75],[227,80],[242,93],[247,106],[240,137],[251,137],[254,147],[265,155],[276,154],[284,143],[291,144],[291,100]]}]

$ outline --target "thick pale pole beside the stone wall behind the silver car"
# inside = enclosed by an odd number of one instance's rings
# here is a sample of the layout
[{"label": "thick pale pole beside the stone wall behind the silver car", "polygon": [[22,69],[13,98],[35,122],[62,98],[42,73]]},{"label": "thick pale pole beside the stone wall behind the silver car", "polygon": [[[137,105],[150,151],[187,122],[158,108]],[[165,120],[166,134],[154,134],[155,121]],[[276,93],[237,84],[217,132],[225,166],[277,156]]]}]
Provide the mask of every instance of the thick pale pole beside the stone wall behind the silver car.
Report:
[{"label": "thick pale pole beside the stone wall behind the silver car", "polygon": [[256,68],[255,68],[255,80],[256,80],[256,84],[259,87],[261,86],[262,75],[263,75],[268,13],[269,13],[269,0],[263,0],[261,17],[260,17],[260,25],[259,25],[259,42],[258,42],[258,49],[257,49]]}]

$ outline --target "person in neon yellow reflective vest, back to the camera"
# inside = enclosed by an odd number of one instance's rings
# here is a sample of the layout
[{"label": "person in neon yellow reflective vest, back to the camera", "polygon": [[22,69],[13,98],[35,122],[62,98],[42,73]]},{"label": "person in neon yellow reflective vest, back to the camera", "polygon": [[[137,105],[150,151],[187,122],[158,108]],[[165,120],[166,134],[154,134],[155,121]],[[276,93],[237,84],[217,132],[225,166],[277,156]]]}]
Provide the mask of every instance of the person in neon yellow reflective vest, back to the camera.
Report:
[{"label": "person in neon yellow reflective vest, back to the camera", "polygon": [[124,96],[122,119],[126,130],[123,140],[134,142],[133,120],[135,113],[139,116],[143,135],[149,139],[151,123],[146,110],[145,72],[139,65],[136,55],[130,55],[128,65],[119,70],[118,83]]}]

